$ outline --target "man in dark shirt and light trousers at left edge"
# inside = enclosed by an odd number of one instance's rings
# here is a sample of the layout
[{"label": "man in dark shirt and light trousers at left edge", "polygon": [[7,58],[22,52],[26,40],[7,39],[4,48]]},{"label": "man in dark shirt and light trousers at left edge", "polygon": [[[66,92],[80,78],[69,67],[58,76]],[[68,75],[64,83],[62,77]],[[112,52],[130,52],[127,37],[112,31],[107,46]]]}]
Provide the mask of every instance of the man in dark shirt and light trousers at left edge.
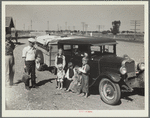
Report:
[{"label": "man in dark shirt and light trousers at left edge", "polygon": [[6,84],[11,87],[13,85],[13,78],[14,78],[14,73],[15,73],[15,68],[14,68],[14,54],[13,50],[15,49],[14,43],[11,41],[11,35],[7,34],[6,35],[6,40],[5,40],[5,73],[6,73]]}]

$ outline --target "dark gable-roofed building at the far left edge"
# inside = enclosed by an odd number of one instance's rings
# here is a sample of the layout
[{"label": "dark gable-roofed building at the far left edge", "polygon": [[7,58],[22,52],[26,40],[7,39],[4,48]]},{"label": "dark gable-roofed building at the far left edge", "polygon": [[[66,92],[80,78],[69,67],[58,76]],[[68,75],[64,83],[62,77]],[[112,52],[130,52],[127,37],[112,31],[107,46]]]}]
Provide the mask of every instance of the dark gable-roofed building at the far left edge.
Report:
[{"label": "dark gable-roofed building at the far left edge", "polygon": [[6,17],[5,19],[6,34],[11,34],[11,28],[14,27],[15,26],[12,17]]}]

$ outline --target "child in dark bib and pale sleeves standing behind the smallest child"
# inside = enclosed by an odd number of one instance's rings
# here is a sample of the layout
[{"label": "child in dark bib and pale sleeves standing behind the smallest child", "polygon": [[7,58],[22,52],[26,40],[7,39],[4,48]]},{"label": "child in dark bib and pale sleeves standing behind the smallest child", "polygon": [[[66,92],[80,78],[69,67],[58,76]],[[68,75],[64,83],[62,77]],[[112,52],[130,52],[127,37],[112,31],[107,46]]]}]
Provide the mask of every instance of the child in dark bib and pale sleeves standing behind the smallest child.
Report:
[{"label": "child in dark bib and pale sleeves standing behind the smallest child", "polygon": [[[65,65],[66,65],[65,56],[63,55],[63,50],[61,48],[58,50],[58,54],[55,57],[55,67],[57,70],[58,70],[59,64],[62,64],[63,69],[65,68]],[[56,80],[56,83],[57,83],[56,88],[58,88],[57,80]]]}]

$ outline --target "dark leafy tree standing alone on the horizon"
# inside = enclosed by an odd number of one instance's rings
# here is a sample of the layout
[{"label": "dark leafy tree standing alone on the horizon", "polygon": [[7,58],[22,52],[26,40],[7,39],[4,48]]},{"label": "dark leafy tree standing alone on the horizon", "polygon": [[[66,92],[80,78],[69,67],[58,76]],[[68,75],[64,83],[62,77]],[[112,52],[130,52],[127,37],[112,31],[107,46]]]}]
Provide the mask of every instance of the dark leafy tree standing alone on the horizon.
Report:
[{"label": "dark leafy tree standing alone on the horizon", "polygon": [[111,32],[114,34],[114,38],[116,36],[117,33],[119,33],[119,27],[121,25],[121,22],[120,21],[114,21],[112,22],[112,27],[111,28]]}]

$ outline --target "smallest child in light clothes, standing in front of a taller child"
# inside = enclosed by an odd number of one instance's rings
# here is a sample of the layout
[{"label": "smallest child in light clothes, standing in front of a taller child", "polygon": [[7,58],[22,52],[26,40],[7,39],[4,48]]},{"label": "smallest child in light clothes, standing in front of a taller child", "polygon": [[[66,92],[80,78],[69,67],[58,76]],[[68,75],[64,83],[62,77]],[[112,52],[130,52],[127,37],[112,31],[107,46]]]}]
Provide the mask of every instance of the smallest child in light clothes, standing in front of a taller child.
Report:
[{"label": "smallest child in light clothes, standing in front of a taller child", "polygon": [[58,65],[58,70],[57,70],[58,89],[63,88],[64,77],[65,77],[65,71],[63,70],[63,65],[59,64]]}]

